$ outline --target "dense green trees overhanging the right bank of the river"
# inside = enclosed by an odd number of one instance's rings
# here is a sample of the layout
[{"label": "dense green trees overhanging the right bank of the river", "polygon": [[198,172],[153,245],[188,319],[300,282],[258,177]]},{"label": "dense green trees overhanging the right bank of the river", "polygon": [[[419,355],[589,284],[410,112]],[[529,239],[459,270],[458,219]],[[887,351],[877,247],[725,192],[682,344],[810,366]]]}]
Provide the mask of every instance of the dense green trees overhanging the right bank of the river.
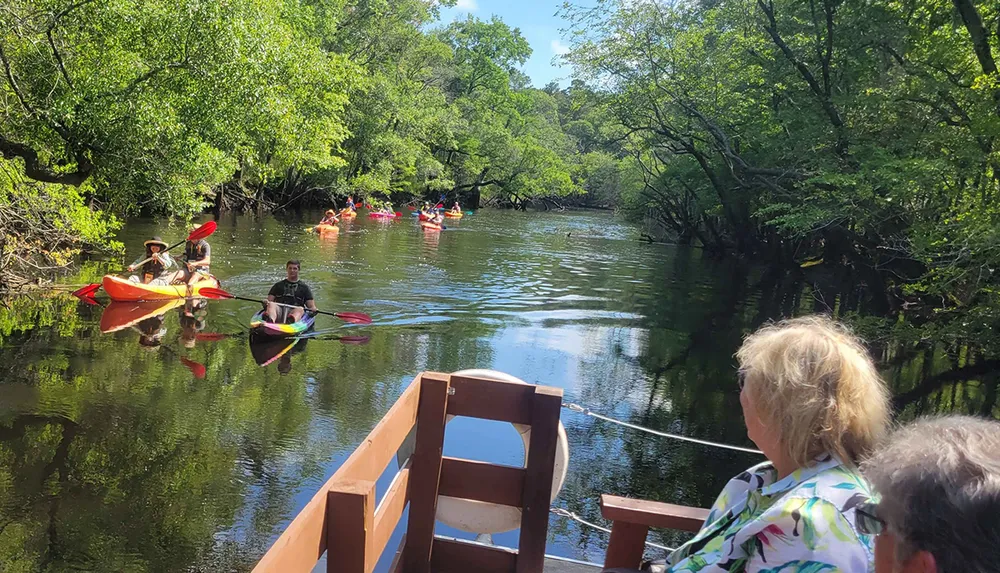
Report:
[{"label": "dense green trees overhanging the right bank of the river", "polygon": [[[1000,5],[605,0],[567,6],[581,78],[642,170],[626,203],[685,241],[822,257],[875,308],[1000,283]],[[922,296],[921,296],[922,295]]]}]

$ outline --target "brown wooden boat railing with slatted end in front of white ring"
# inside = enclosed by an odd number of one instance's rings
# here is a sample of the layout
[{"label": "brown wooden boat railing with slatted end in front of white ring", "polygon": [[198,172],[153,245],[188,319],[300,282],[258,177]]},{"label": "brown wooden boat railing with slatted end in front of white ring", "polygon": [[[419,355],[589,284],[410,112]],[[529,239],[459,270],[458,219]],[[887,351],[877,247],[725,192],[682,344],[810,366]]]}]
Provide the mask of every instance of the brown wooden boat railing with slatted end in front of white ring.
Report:
[{"label": "brown wooden boat railing with slatted end in front of white ring", "polygon": [[[391,571],[542,571],[562,390],[424,372],[320,488],[254,568],[257,573],[368,573],[407,504]],[[447,415],[531,426],[526,467],[442,456]],[[416,426],[413,454],[376,505],[375,482]],[[438,495],[521,508],[518,550],[434,536]]]}]

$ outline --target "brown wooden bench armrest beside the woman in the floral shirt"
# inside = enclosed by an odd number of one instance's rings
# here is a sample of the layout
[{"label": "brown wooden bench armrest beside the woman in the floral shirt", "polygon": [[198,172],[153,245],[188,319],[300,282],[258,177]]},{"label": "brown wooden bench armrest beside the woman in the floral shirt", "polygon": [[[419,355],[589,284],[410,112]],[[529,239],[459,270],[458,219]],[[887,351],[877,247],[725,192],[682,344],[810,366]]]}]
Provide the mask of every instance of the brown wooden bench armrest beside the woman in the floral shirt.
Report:
[{"label": "brown wooden bench armrest beside the woman in the floral shirt", "polygon": [[612,522],[604,567],[638,569],[650,527],[697,532],[708,510],[604,494],[601,515]]}]

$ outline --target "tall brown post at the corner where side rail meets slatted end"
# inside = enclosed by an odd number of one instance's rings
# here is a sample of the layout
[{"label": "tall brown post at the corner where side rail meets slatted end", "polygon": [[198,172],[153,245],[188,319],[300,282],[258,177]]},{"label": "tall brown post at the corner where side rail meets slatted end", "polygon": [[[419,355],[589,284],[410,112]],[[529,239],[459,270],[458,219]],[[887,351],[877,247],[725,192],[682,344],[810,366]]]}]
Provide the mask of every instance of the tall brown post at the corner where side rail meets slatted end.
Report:
[{"label": "tall brown post at the corner where side rail meets slatted end", "polygon": [[403,549],[403,570],[407,573],[428,573],[431,567],[449,381],[447,374],[420,375],[417,441],[410,456],[410,518]]}]

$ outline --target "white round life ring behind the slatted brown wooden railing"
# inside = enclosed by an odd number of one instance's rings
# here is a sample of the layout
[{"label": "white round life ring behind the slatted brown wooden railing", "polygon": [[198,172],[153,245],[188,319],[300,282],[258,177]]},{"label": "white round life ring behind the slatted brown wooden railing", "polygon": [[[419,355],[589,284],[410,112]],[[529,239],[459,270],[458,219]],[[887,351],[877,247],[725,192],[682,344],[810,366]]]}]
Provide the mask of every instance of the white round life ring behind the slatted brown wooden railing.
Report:
[{"label": "white round life ring behind the slatted brown wooden railing", "polygon": [[[502,382],[514,382],[516,384],[527,384],[527,382],[520,378],[496,370],[460,370],[453,372],[453,374],[500,380]],[[451,421],[452,418],[454,416],[448,416],[447,421]],[[525,467],[528,462],[528,444],[531,442],[531,426],[524,424],[511,425],[521,435],[521,441],[524,442],[524,461],[521,463],[521,467]],[[562,490],[563,483],[566,481],[566,470],[569,465],[569,443],[566,440],[566,429],[563,428],[562,422],[559,422],[557,435],[556,458],[552,471],[552,495],[549,501],[555,500],[559,495],[559,491]],[[409,443],[404,443],[397,455],[397,459],[399,460],[405,460],[413,453],[413,442],[410,440],[407,441]],[[501,533],[517,529],[521,526],[521,508],[441,495],[438,496],[435,518],[445,525],[469,533]]]}]

